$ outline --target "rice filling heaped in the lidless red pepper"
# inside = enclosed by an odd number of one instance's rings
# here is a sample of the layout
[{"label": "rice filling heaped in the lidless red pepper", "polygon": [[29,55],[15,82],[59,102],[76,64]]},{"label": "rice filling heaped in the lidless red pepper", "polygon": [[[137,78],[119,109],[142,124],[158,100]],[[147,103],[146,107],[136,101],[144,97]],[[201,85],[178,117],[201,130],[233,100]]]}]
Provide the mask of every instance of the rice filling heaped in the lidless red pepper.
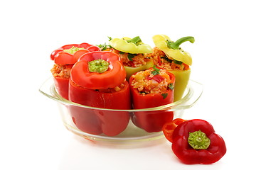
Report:
[{"label": "rice filling heaped in the lidless red pepper", "polygon": [[132,75],[132,86],[138,89],[140,94],[164,94],[169,89],[171,79],[165,69],[160,69],[159,74],[153,74],[152,70],[137,72]]}]

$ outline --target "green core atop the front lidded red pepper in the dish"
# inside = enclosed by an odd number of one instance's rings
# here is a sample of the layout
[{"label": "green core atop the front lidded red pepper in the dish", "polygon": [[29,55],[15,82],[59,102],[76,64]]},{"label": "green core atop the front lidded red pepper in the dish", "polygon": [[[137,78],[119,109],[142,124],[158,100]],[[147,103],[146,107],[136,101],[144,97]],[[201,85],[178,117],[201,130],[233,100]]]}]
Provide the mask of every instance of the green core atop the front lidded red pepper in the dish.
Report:
[{"label": "green core atop the front lidded red pepper in the dish", "polygon": [[89,71],[90,72],[97,72],[97,73],[103,73],[106,72],[110,63],[99,59],[99,60],[92,60],[91,62],[88,62],[89,64]]}]

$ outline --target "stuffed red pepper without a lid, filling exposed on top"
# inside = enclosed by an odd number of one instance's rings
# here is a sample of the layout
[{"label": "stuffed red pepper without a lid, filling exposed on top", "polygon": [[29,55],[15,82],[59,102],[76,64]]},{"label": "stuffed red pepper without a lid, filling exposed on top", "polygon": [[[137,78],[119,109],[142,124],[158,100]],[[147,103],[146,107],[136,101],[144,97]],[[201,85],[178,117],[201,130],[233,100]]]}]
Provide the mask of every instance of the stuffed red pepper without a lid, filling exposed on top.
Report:
[{"label": "stuffed red pepper without a lid, filling exposed on top", "polygon": [[[132,75],[129,85],[133,108],[154,108],[172,103],[174,82],[174,74],[156,67]],[[146,132],[159,132],[164,123],[173,118],[172,111],[141,111],[132,115],[132,122]]]}]

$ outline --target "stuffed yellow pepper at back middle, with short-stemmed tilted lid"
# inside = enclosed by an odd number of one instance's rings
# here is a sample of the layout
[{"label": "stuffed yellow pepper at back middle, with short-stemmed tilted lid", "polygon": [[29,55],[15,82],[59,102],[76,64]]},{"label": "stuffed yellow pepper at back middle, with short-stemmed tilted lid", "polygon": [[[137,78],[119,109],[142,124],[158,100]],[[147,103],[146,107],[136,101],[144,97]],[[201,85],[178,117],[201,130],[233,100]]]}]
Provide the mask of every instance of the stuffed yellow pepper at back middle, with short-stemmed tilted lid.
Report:
[{"label": "stuffed yellow pepper at back middle, with short-stemmed tilted lid", "polygon": [[152,52],[152,48],[144,44],[139,36],[132,39],[114,38],[110,40],[110,46],[120,56],[127,72],[127,80],[136,72],[154,67],[152,58],[146,55]]}]

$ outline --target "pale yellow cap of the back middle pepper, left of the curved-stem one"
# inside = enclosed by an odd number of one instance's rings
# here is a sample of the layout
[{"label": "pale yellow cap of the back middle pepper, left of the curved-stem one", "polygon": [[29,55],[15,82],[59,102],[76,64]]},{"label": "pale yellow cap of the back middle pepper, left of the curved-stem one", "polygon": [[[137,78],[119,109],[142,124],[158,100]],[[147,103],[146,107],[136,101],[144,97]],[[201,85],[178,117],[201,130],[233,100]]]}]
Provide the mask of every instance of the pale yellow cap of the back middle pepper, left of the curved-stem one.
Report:
[{"label": "pale yellow cap of the back middle pepper, left of the curved-stem one", "polygon": [[[139,38],[139,37],[136,37],[136,38]],[[128,52],[130,54],[151,53],[152,52],[152,48],[149,45],[142,43],[141,41],[139,41],[138,43],[129,42],[129,40],[133,40],[133,39],[131,39],[131,38],[114,38],[114,39],[110,40],[110,45],[116,50],[119,50],[121,52]]]}]

